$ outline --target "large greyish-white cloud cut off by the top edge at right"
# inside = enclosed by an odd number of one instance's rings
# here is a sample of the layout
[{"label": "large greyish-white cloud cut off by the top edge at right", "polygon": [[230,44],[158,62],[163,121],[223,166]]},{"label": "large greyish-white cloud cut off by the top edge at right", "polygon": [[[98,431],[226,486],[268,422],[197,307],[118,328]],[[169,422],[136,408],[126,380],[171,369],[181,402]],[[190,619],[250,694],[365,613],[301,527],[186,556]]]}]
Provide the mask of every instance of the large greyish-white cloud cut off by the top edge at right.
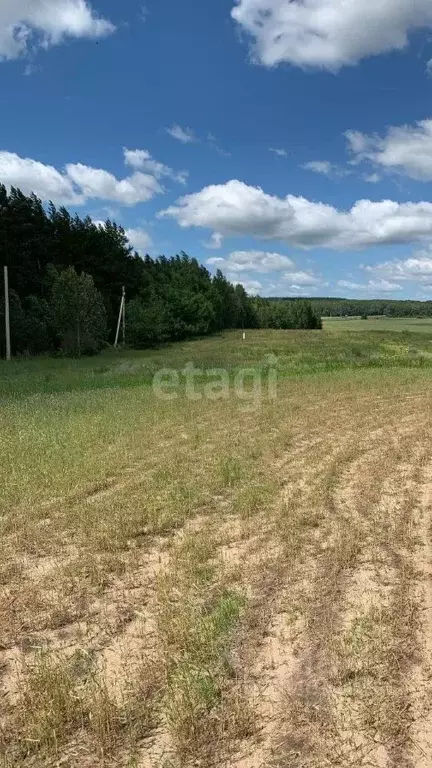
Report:
[{"label": "large greyish-white cloud cut off by the top edge at right", "polygon": [[232,17],[253,39],[253,56],[337,71],[408,44],[432,27],[430,0],[235,0]]}]

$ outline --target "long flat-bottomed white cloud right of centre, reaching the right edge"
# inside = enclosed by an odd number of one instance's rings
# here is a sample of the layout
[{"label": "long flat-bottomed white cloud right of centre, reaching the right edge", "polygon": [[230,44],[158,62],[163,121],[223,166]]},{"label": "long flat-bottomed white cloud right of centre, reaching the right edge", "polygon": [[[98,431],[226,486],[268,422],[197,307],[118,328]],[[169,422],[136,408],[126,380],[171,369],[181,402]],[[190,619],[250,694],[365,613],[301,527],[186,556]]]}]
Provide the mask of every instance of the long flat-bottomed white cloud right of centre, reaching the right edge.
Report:
[{"label": "long flat-bottomed white cloud right of centre, reaching the right edge", "polygon": [[361,249],[380,243],[432,238],[432,203],[359,200],[347,211],[304,197],[269,195],[231,180],[185,195],[159,213],[181,227],[204,227],[224,236],[281,240],[302,247]]}]

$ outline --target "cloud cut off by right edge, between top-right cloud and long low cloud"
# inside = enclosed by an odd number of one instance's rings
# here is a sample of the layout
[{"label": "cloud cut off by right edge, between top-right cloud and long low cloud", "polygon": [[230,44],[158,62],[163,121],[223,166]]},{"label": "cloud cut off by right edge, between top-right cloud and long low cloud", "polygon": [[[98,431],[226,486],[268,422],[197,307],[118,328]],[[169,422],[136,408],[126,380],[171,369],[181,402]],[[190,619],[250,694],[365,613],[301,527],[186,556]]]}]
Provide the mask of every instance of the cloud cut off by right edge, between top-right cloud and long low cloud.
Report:
[{"label": "cloud cut off by right edge, between top-right cloud and long low cloud", "polygon": [[387,171],[419,181],[432,180],[432,120],[415,125],[392,126],[383,137],[347,131],[355,163],[372,162]]}]

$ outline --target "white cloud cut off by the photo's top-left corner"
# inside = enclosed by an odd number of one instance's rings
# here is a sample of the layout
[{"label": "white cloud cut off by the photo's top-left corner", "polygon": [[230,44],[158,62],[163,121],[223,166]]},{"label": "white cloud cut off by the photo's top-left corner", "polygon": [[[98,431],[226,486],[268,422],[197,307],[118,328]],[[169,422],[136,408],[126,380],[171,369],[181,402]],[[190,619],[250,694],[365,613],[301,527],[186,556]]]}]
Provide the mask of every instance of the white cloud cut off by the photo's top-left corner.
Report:
[{"label": "white cloud cut off by the photo's top-left corner", "polygon": [[68,37],[100,38],[114,29],[86,0],[1,0],[0,61],[23,56],[30,47],[48,48]]}]

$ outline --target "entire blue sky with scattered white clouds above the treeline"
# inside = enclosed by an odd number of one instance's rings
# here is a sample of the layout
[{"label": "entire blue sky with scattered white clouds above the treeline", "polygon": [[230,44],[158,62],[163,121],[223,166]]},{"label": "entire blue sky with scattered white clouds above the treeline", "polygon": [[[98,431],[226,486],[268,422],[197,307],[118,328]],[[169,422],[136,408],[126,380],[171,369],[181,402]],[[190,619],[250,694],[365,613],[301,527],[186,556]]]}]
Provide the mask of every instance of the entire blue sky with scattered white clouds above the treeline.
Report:
[{"label": "entire blue sky with scattered white clouds above the treeline", "polygon": [[431,33],[430,0],[2,0],[0,181],[252,293],[432,298]]}]

